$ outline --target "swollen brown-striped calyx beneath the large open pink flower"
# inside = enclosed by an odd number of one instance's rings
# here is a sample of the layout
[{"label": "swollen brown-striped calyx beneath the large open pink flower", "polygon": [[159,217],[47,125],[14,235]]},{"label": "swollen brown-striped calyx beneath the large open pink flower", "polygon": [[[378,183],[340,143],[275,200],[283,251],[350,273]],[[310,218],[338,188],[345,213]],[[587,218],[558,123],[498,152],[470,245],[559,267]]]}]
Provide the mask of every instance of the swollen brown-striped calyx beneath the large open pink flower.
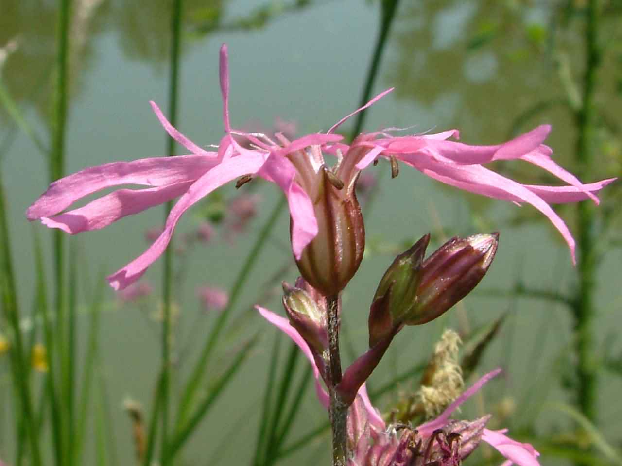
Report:
[{"label": "swollen brown-striped calyx beneath the large open pink flower", "polygon": [[365,229],[354,183],[343,181],[326,167],[318,173],[313,208],[318,234],[296,263],[305,280],[324,296],[337,295],[363,259]]}]

